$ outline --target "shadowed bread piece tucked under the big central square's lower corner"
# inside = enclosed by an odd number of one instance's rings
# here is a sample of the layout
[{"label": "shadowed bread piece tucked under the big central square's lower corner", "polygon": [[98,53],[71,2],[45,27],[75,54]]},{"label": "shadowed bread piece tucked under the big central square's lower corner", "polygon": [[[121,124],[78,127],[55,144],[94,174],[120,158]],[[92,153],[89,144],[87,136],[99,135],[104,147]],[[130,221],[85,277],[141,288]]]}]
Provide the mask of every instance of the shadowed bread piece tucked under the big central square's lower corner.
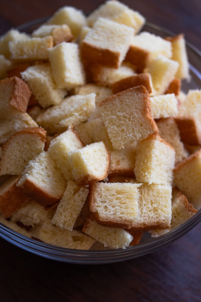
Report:
[{"label": "shadowed bread piece tucked under the big central square's lower corner", "polygon": [[110,155],[108,175],[134,176],[136,144],[131,144],[121,150],[113,150]]}]

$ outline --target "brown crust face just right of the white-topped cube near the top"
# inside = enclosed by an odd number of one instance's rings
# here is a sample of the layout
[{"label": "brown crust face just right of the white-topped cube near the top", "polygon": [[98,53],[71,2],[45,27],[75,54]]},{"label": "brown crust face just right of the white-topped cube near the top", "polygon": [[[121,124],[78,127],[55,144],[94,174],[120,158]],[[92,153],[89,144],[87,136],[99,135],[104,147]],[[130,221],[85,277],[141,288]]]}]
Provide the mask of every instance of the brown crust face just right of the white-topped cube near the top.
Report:
[{"label": "brown crust face just right of the white-topped cube near the top", "polygon": [[141,73],[147,67],[149,52],[140,47],[130,45],[126,55],[126,61],[136,66],[136,71]]}]

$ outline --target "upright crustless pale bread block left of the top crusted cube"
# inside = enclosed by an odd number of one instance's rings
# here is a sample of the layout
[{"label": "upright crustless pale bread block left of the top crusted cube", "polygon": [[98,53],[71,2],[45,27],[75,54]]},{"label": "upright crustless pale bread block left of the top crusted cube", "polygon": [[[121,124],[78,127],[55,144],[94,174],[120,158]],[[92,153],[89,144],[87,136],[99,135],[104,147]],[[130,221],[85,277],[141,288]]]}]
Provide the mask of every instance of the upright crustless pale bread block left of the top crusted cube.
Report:
[{"label": "upright crustless pale bread block left of the top crusted cube", "polygon": [[77,44],[62,42],[49,49],[49,61],[58,88],[70,90],[85,84],[85,74]]}]

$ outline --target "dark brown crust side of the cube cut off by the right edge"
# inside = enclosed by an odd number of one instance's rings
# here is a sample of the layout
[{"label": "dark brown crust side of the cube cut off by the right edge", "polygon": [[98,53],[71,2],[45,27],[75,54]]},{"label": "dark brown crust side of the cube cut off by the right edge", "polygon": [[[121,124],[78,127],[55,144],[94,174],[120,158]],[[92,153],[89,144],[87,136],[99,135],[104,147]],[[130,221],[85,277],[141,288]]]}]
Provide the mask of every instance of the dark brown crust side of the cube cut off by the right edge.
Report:
[{"label": "dark brown crust side of the cube cut off by the right edge", "polygon": [[187,145],[200,145],[196,120],[193,117],[176,117],[175,121],[180,132],[181,141]]}]

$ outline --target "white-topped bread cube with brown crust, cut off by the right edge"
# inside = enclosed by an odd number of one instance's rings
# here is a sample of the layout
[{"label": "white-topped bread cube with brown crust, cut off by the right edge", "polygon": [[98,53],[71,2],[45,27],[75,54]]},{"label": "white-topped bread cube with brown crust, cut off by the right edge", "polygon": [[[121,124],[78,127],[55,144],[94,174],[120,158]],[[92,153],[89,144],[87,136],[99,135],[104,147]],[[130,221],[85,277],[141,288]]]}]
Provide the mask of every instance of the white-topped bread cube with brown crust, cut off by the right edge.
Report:
[{"label": "white-topped bread cube with brown crust, cut off by the right edge", "polygon": [[185,144],[201,145],[201,90],[189,90],[179,108],[176,123]]}]

